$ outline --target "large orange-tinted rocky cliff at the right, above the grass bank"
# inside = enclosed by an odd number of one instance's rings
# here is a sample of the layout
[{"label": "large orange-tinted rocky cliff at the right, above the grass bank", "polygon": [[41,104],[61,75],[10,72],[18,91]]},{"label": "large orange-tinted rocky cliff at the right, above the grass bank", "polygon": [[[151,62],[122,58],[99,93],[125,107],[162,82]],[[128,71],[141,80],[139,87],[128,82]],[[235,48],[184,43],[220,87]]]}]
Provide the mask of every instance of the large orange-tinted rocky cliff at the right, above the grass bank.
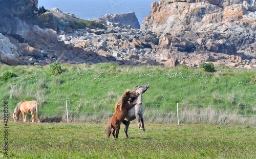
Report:
[{"label": "large orange-tinted rocky cliff at the right, above the grass bank", "polygon": [[[160,0],[152,3],[141,29],[161,33],[171,56],[221,53],[255,64],[255,5],[252,0]],[[177,38],[186,41],[177,43]],[[213,62],[219,64],[218,60]]]}]

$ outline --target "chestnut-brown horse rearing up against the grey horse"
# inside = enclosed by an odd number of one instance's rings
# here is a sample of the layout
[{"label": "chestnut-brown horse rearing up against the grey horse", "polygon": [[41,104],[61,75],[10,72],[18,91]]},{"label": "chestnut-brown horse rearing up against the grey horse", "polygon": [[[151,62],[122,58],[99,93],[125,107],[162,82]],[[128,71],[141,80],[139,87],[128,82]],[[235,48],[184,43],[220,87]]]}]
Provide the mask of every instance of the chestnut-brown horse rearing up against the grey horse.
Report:
[{"label": "chestnut-brown horse rearing up against the grey horse", "polygon": [[[113,137],[118,138],[119,130],[120,130],[120,125],[122,121],[124,120],[127,111],[131,109],[134,105],[137,104],[137,102],[129,104],[129,99],[134,99],[138,97],[138,93],[136,92],[131,92],[129,89],[127,89],[123,95],[120,97],[118,102],[115,105],[115,113],[110,119],[110,123],[108,126],[106,126],[106,138],[110,137],[111,134],[111,129],[113,128]],[[116,134],[115,134],[116,131]]]}]

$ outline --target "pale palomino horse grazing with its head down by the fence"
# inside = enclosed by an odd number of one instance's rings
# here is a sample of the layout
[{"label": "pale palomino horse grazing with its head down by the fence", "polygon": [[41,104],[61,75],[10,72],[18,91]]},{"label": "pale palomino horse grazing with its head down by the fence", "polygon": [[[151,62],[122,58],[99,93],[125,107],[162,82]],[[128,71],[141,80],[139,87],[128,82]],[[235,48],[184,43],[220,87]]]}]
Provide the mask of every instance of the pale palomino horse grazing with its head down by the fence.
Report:
[{"label": "pale palomino horse grazing with its head down by the fence", "polygon": [[22,112],[23,115],[23,121],[27,122],[27,113],[31,113],[32,115],[32,122],[35,120],[35,114],[34,111],[36,111],[36,120],[38,123],[40,123],[39,119],[39,105],[36,101],[21,101],[17,104],[16,108],[14,109],[14,113],[12,118],[14,121],[19,121],[19,113]]}]

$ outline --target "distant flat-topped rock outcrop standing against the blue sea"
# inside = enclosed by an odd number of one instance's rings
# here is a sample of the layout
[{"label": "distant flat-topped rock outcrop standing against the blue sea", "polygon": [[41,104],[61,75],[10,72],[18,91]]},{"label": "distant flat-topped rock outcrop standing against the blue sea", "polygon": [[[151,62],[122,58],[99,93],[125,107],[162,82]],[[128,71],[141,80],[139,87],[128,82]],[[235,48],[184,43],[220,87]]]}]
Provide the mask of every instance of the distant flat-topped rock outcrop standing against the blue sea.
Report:
[{"label": "distant flat-topped rock outcrop standing against the blue sea", "polygon": [[119,23],[123,26],[131,26],[135,29],[140,29],[140,23],[135,15],[135,12],[118,13],[118,14],[105,14],[102,16],[105,21]]}]

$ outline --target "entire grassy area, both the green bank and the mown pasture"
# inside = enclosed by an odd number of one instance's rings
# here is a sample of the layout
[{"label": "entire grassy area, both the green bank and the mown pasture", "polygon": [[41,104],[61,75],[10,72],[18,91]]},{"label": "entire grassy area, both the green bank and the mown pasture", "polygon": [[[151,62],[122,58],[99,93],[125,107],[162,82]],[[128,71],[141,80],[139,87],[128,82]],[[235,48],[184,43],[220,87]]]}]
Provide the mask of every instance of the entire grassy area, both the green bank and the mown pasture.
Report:
[{"label": "entire grassy area, both the green bank and the mown pasture", "polygon": [[[61,64],[61,69],[52,76],[49,65],[0,64],[1,78],[8,71],[17,75],[0,80],[0,102],[8,103],[9,115],[6,134],[0,112],[0,158],[6,157],[5,137],[9,158],[256,158],[256,70],[219,66],[208,73],[113,63]],[[118,140],[105,139],[117,100],[127,88],[146,83],[146,131],[132,121],[130,139],[123,125]],[[12,121],[22,100],[39,102],[41,123]]]}]

